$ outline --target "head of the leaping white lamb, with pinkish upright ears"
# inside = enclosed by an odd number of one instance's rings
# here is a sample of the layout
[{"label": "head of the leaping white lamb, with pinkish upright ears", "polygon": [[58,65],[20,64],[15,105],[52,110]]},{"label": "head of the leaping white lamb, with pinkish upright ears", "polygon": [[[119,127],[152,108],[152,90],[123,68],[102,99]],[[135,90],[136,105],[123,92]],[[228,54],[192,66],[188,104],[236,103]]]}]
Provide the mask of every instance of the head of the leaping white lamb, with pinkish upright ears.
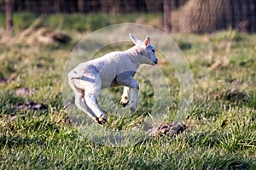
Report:
[{"label": "head of the leaping white lamb, with pinkish upright ears", "polygon": [[158,59],[155,56],[155,48],[150,44],[150,37],[146,37],[142,42],[136,37],[129,34],[131,41],[135,44],[134,49],[137,50],[137,53],[140,55],[140,61],[142,64],[156,65]]}]

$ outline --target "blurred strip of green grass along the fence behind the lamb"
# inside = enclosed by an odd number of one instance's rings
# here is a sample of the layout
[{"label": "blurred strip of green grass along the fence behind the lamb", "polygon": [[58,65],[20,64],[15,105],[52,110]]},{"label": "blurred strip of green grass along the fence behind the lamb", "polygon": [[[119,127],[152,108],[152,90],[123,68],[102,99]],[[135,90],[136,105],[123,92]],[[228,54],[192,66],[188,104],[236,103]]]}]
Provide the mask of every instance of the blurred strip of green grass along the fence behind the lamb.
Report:
[{"label": "blurred strip of green grass along the fence behind the lamb", "polygon": [[[42,21],[38,27],[45,26],[51,29],[61,29],[62,31],[96,31],[104,26],[111,26],[118,23],[148,23],[151,26],[160,28],[161,14],[14,14],[13,20],[15,30],[24,30],[39,17]],[[0,14],[0,26],[5,26],[5,15]]]}]

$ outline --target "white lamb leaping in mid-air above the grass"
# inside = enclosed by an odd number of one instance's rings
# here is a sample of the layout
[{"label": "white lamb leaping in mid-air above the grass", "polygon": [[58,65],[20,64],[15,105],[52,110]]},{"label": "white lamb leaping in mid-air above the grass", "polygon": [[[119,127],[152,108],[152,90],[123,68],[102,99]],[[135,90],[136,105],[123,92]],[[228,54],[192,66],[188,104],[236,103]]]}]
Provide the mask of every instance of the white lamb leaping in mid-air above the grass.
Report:
[{"label": "white lamb leaping in mid-air above the grass", "polygon": [[139,84],[133,77],[141,64],[156,65],[155,48],[147,36],[142,42],[129,34],[135,44],[125,51],[105,54],[76,66],[68,73],[68,83],[75,94],[75,105],[99,124],[107,122],[107,117],[97,104],[97,96],[102,88],[124,85],[120,105],[129,103],[130,110],[137,108]]}]

